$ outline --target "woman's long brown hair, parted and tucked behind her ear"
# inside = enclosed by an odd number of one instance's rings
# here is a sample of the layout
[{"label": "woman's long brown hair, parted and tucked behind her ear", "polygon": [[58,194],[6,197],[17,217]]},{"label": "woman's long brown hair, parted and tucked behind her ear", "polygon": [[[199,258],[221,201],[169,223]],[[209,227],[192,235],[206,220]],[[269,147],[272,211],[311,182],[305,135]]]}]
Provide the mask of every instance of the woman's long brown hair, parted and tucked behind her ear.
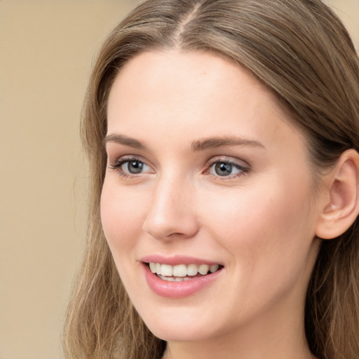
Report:
[{"label": "woman's long brown hair, parted and tucked behind her ear", "polygon": [[[71,359],[161,358],[163,343],[137,315],[100,222],[107,97],[121,67],[147,50],[206,50],[247,67],[306,133],[313,172],[359,150],[359,60],[336,15],[320,0],[149,0],[100,50],[83,105],[90,165],[88,242],[67,311]],[[358,219],[323,241],[306,297],[306,337],[318,358],[359,358]]]}]

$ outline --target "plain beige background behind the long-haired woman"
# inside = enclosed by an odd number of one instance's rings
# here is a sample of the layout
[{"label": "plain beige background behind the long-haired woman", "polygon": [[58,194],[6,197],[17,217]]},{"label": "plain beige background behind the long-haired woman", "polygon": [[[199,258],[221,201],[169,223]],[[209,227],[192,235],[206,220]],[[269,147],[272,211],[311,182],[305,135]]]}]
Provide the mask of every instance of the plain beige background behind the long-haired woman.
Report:
[{"label": "plain beige background behind the long-haired woman", "polygon": [[[359,1],[329,1],[359,48]],[[57,359],[85,233],[79,113],[135,0],[0,0],[0,359]]]}]

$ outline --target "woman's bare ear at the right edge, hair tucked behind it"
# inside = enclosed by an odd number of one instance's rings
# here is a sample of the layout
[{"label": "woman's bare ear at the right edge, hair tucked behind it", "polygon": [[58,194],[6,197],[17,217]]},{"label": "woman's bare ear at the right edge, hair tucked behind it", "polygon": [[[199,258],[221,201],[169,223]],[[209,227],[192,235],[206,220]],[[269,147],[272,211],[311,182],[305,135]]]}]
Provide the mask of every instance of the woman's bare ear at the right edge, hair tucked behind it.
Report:
[{"label": "woman's bare ear at the right edge, hair tucked behind it", "polygon": [[348,149],[325,176],[325,202],[316,226],[316,236],[331,239],[344,233],[359,213],[359,154]]}]

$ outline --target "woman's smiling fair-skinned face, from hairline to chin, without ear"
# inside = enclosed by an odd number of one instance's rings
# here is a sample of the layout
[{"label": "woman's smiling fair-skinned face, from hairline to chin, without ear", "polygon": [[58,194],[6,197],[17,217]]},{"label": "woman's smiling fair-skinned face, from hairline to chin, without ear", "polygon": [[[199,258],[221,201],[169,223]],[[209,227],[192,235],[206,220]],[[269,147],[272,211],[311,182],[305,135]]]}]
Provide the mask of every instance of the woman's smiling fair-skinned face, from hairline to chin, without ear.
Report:
[{"label": "woman's smiling fair-skinned face, from hairline to chin, without ear", "polygon": [[154,334],[300,327],[320,201],[302,133],[259,81],[209,53],[137,55],[111,88],[106,150],[104,233]]}]

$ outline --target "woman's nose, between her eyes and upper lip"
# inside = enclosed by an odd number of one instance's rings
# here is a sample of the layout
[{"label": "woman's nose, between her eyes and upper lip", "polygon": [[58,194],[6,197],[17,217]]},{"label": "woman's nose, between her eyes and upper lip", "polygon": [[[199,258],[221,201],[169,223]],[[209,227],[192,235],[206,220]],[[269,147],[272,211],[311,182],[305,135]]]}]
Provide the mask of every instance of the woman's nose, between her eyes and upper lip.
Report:
[{"label": "woman's nose, between her eyes and upper lip", "polygon": [[199,229],[191,185],[163,178],[156,184],[143,230],[158,240],[191,238]]}]

